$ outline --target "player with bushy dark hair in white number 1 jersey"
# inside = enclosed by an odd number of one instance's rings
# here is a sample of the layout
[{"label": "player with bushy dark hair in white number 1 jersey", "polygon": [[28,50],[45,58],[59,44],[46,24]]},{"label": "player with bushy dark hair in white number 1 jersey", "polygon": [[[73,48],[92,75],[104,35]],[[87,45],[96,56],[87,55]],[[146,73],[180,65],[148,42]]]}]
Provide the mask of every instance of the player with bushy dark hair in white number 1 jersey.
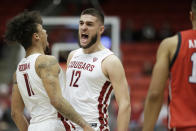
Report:
[{"label": "player with bushy dark hair in white number 1 jersey", "polygon": [[[22,44],[26,50],[16,69],[12,90],[11,114],[18,129],[70,131],[74,127],[63,121],[61,113],[85,131],[93,131],[62,97],[61,88],[65,87],[62,70],[53,56],[44,54],[48,41],[40,14],[32,11],[14,17],[7,25],[5,38]],[[23,114],[24,107],[30,112],[30,125]]]}]

